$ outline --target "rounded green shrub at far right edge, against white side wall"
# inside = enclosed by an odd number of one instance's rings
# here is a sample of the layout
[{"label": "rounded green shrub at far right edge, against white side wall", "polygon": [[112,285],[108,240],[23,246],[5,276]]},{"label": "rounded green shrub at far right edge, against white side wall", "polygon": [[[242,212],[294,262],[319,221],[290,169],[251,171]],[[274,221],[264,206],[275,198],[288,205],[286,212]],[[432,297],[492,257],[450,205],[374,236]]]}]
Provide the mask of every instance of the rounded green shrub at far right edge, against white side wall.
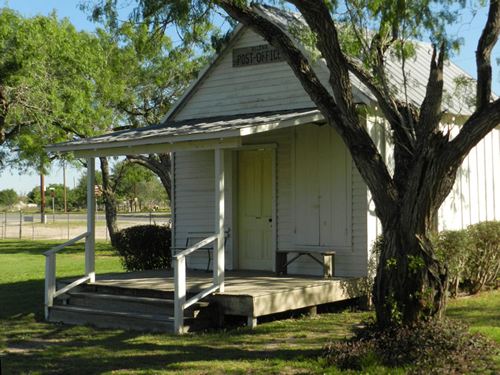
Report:
[{"label": "rounded green shrub at far right edge, against white side wall", "polygon": [[485,221],[467,227],[471,250],[465,277],[471,293],[485,285],[498,284],[500,271],[500,221]]}]

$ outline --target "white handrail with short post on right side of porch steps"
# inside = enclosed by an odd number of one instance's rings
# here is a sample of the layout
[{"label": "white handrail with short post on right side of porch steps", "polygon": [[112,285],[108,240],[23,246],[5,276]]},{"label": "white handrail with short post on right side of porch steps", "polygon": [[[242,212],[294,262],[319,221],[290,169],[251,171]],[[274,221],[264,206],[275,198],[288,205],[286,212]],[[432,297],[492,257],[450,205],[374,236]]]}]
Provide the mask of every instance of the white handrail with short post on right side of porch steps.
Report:
[{"label": "white handrail with short post on right side of porch steps", "polygon": [[174,260],[174,330],[177,334],[184,333],[184,310],[217,291],[220,285],[215,280],[200,293],[186,300],[186,257],[196,250],[217,241],[218,235],[213,234],[193,246],[173,256]]}]

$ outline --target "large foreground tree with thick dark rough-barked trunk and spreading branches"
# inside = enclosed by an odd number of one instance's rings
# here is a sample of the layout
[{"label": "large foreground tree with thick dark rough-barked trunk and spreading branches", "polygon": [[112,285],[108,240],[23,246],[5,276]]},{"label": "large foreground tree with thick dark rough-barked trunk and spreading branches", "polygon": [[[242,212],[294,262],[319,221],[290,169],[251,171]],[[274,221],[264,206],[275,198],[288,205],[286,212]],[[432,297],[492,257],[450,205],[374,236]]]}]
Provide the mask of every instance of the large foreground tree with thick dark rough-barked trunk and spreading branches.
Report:
[{"label": "large foreground tree with thick dark rough-barked trunk and spreading branches", "polygon": [[[326,122],[342,137],[372,194],[384,238],[374,287],[378,323],[381,326],[412,323],[439,316],[445,304],[447,273],[436,259],[429,234],[462,161],[500,124],[500,100],[494,99],[491,91],[491,51],[500,32],[499,0],[489,2],[488,18],[477,43],[475,108],[454,137],[440,127],[443,67],[449,51],[456,45],[446,28],[457,20],[464,2],[272,3],[298,11],[307,29],[290,32],[268,17],[261,5],[244,0],[143,0],[138,2],[134,16],[153,25],[179,21],[186,28],[189,20],[222,9],[278,48]],[[96,9],[109,10],[116,4],[115,0],[104,0],[96,4]],[[300,38],[299,34],[312,41],[326,62],[327,82],[320,81],[311,56],[298,47],[295,39]],[[386,62],[388,54],[395,53],[404,64],[411,54],[412,40],[424,36],[430,37],[433,54],[425,96],[415,105],[394,92]],[[352,76],[376,98],[389,125],[394,144],[392,172],[360,116],[353,98]],[[411,89],[411,86],[403,88]]]}]

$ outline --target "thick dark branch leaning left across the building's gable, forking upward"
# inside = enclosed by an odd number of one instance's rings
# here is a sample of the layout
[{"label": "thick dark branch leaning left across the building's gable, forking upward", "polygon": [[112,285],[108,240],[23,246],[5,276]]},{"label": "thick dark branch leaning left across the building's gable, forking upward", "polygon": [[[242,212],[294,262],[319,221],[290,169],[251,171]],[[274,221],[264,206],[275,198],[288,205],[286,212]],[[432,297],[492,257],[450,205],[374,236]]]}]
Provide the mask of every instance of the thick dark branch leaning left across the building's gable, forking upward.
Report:
[{"label": "thick dark branch leaning left across the building's gable, forking upward", "polygon": [[[349,72],[343,54],[340,52],[341,57],[335,58],[335,63],[340,65],[339,69],[342,71],[336,73],[336,76],[343,79],[341,85],[335,82],[336,85],[332,86],[335,96],[339,97],[337,102],[341,102],[340,105],[337,105],[336,100],[320,82],[308,59],[285,31],[261,14],[262,8],[259,6],[250,8],[243,3],[230,0],[215,0],[215,3],[234,19],[255,30],[271,45],[280,50],[311,100],[321,111],[328,124],[337,130],[349,148],[359,172],[373,193],[378,214],[381,217],[388,217],[395,209],[397,191],[382,156],[364,124],[359,120],[353,103]],[[314,3],[315,6],[318,6],[318,3]],[[320,3],[323,4],[323,2]],[[328,12],[327,9],[326,11]],[[328,13],[327,15],[329,16]],[[338,40],[335,39],[335,41],[339,48]],[[329,59],[333,59],[331,52],[329,52]],[[330,67],[330,70],[336,68]],[[347,91],[342,93],[339,86]]]}]

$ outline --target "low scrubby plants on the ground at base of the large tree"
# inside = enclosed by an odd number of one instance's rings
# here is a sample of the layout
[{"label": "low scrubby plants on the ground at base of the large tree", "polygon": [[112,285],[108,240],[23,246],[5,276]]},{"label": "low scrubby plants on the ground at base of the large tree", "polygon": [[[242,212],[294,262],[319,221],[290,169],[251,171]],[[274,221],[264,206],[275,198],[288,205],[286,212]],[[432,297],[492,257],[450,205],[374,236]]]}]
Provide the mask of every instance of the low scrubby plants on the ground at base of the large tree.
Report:
[{"label": "low scrubby plants on the ground at base of the large tree", "polygon": [[430,321],[381,330],[368,323],[350,340],[326,346],[326,363],[341,369],[368,370],[382,364],[416,374],[495,373],[498,348],[463,323]]}]

